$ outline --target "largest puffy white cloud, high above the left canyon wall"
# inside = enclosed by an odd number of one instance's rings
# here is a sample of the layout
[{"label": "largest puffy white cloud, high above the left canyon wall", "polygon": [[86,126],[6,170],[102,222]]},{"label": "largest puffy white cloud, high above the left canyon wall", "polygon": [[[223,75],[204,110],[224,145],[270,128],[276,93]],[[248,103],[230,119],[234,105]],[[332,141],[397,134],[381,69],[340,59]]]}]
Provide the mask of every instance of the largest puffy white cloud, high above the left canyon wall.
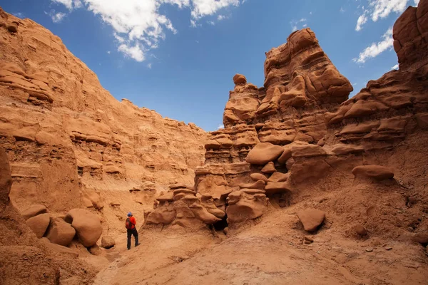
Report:
[{"label": "largest puffy white cloud, high above the left canyon wall", "polygon": [[[221,9],[239,6],[243,0],[51,0],[62,4],[69,11],[87,9],[100,16],[113,28],[118,42],[118,51],[126,56],[143,61],[145,53],[158,47],[166,33],[177,33],[173,23],[161,12],[161,6],[173,5],[178,9],[190,9],[190,26],[200,26],[198,21],[213,16]],[[65,14],[63,15],[65,16]],[[218,21],[225,16],[218,16]],[[214,23],[208,21],[208,24]]]}]

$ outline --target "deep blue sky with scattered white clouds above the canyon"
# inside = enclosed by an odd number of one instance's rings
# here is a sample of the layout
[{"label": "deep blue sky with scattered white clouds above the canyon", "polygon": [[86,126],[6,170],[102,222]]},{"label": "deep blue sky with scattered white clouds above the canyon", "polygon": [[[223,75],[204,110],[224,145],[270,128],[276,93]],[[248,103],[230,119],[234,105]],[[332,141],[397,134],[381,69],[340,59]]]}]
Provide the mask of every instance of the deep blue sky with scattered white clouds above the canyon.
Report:
[{"label": "deep blue sky with scattered white clouds above the canyon", "polygon": [[60,36],[118,100],[215,130],[235,73],[308,26],[355,95],[397,64],[392,26],[417,0],[0,0]]}]

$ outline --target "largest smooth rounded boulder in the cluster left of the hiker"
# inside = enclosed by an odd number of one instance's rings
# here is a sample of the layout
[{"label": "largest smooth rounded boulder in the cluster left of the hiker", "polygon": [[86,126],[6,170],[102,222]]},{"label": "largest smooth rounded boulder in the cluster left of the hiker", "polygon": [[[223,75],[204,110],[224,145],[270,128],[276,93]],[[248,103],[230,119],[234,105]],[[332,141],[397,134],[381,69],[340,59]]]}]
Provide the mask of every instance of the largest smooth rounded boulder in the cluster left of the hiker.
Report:
[{"label": "largest smooth rounded boulder in the cluster left of the hiker", "polygon": [[87,209],[71,209],[66,214],[66,222],[76,229],[78,240],[84,247],[92,247],[103,233],[99,217]]}]

